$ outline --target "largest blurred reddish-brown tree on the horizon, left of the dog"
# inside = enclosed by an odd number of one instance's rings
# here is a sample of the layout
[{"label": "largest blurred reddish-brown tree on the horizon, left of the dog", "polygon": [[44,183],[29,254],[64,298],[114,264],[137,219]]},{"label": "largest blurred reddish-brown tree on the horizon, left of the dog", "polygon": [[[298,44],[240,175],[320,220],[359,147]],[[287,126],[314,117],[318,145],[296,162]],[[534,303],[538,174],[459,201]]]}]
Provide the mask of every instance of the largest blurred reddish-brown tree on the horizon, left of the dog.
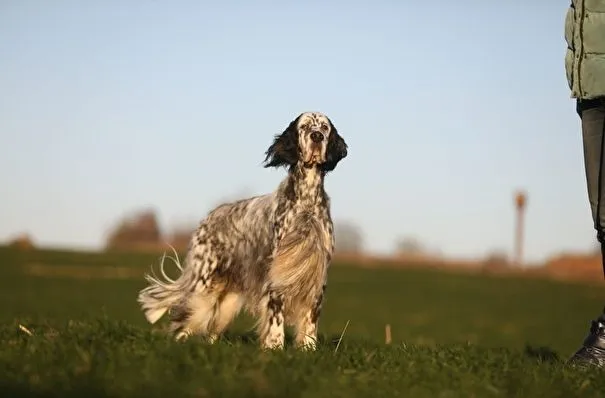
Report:
[{"label": "largest blurred reddish-brown tree on the horizon, left of the dog", "polygon": [[126,217],[109,233],[107,249],[153,247],[161,243],[162,233],[155,211],[146,209]]}]

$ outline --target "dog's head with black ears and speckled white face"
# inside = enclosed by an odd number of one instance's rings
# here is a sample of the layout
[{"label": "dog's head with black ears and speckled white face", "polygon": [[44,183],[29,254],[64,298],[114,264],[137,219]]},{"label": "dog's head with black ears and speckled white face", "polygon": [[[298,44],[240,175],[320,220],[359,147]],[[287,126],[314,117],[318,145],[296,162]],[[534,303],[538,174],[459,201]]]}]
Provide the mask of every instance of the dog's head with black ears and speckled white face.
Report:
[{"label": "dog's head with black ears and speckled white face", "polygon": [[347,144],[332,121],[319,112],[301,113],[267,149],[265,167],[318,167],[334,170],[347,156]]}]

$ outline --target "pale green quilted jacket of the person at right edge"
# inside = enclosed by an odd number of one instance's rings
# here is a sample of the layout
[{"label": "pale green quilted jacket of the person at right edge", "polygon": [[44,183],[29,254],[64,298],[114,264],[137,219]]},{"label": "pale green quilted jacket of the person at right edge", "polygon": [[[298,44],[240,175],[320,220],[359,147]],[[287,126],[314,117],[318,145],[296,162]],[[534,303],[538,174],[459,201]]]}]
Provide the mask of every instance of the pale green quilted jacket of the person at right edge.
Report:
[{"label": "pale green quilted jacket of the person at right edge", "polygon": [[605,97],[605,0],[572,0],[565,16],[565,41],[571,97]]}]

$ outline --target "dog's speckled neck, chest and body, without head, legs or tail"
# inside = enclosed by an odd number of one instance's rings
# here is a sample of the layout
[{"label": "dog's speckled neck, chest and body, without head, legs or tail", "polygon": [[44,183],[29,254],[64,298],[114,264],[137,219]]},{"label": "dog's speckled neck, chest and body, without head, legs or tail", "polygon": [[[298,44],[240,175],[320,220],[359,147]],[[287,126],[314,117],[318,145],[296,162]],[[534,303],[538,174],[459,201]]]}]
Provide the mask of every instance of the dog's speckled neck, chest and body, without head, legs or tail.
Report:
[{"label": "dog's speckled neck, chest and body, without head, legs or tail", "polygon": [[316,169],[288,174],[272,194],[213,210],[194,246],[219,248],[217,276],[240,292],[261,295],[269,280],[305,302],[327,277],[334,249],[330,201]]}]

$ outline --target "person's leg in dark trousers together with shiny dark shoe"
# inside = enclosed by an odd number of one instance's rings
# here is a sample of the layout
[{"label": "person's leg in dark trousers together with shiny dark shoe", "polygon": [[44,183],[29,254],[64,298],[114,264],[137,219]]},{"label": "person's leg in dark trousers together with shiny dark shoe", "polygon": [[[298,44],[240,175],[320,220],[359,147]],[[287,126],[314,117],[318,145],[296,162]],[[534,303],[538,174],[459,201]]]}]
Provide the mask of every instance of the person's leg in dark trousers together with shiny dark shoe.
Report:
[{"label": "person's leg in dark trousers together with shiny dark shoe", "polygon": [[[605,276],[605,99],[579,102],[578,114],[582,120],[588,199],[597,240],[601,245]],[[590,333],[570,362],[605,365],[605,309],[599,318],[591,322]]]}]

